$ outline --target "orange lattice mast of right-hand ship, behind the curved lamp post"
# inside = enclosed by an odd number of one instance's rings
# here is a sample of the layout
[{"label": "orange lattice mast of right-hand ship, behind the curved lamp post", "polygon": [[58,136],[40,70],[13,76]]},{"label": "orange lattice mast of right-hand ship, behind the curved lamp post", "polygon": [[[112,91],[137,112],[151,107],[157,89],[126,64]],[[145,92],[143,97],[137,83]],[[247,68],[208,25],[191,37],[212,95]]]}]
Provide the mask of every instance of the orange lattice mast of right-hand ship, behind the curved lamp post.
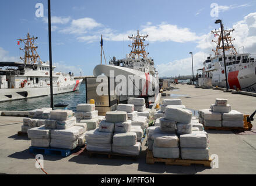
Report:
[{"label": "orange lattice mast of right-hand ship, behind the curved lamp post", "polygon": [[[232,38],[230,36],[230,33],[232,33],[234,31],[234,29],[231,30],[224,30],[223,29],[223,40],[224,40],[224,49],[225,51],[229,51],[232,54],[237,54],[236,48],[234,47],[234,45],[232,44],[232,41],[234,41],[235,39]],[[223,51],[223,46],[220,46],[221,42],[222,42],[222,35],[221,35],[221,31],[220,30],[214,30],[212,31],[212,34],[214,34],[214,37],[218,36],[218,40],[213,41],[217,44],[216,49],[212,49],[213,52],[215,52],[215,56],[220,54],[220,51]]]}]

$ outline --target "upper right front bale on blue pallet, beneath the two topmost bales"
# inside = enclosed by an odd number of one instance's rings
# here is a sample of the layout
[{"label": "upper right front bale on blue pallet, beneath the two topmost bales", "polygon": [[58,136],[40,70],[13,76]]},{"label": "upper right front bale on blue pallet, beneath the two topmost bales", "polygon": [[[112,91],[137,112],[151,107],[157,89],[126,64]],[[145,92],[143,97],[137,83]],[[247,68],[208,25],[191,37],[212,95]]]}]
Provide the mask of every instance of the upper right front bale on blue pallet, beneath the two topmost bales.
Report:
[{"label": "upper right front bale on blue pallet, beneath the two topmost bales", "polygon": [[51,139],[58,139],[58,140],[67,140],[67,141],[75,141],[79,137],[79,131],[74,128],[66,128],[66,129],[55,129],[51,130]]}]

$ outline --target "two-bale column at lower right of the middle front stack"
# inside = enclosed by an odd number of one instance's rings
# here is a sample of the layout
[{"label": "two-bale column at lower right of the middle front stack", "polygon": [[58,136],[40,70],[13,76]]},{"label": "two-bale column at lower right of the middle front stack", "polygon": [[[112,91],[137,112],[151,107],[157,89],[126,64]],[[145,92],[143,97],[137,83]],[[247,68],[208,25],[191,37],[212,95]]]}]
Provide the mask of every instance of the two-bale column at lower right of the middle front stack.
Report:
[{"label": "two-bale column at lower right of the middle front stack", "polygon": [[141,143],[136,141],[136,133],[114,133],[112,151],[126,155],[139,155]]}]

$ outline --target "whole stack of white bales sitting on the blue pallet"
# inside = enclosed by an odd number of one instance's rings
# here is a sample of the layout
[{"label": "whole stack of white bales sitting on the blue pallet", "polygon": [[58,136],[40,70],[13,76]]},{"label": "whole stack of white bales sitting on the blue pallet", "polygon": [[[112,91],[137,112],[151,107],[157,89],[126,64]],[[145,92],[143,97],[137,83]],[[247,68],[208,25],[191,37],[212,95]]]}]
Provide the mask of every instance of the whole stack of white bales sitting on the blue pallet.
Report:
[{"label": "whole stack of white bales sitting on the blue pallet", "polygon": [[74,149],[85,144],[86,125],[76,126],[72,110],[52,110],[43,123],[28,130],[31,146]]}]

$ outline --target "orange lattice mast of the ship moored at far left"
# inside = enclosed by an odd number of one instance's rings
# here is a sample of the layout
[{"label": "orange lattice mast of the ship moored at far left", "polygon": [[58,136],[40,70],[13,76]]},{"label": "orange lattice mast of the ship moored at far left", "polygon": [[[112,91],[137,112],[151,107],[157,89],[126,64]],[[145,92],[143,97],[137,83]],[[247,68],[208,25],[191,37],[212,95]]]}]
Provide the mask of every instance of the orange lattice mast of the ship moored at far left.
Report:
[{"label": "orange lattice mast of the ship moored at far left", "polygon": [[38,55],[36,49],[38,47],[34,47],[34,41],[37,40],[37,37],[30,37],[29,33],[27,33],[26,39],[18,39],[20,42],[23,42],[24,48],[20,48],[21,51],[24,52],[24,58],[20,57],[20,59],[25,64],[35,64],[36,62],[42,63],[40,56]]}]

